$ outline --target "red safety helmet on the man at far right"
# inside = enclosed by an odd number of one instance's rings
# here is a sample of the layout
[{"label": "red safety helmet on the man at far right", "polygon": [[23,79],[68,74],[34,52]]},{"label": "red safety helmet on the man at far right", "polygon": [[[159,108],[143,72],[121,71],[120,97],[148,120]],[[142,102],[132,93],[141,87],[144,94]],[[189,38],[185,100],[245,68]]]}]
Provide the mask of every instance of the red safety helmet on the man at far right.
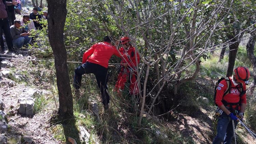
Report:
[{"label": "red safety helmet on the man at far right", "polygon": [[234,78],[240,83],[248,81],[250,77],[250,71],[246,67],[237,67],[234,69]]}]

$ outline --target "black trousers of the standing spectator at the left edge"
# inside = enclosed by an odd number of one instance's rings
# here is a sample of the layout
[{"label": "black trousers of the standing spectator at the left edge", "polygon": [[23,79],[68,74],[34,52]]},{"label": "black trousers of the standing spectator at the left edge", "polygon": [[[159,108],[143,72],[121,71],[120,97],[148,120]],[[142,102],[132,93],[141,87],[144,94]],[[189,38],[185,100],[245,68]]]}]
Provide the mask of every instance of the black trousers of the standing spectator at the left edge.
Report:
[{"label": "black trousers of the standing spectator at the left edge", "polygon": [[[10,30],[10,25],[9,25],[9,20],[8,18],[1,20],[0,19],[0,34],[1,37],[2,35],[2,31],[5,35],[5,40],[8,46],[9,51],[13,51],[13,44],[12,44],[12,37],[11,37],[11,30]],[[2,39],[2,38],[1,38]],[[2,40],[1,40],[2,41]],[[1,43],[1,47],[2,47],[2,43]]]}]

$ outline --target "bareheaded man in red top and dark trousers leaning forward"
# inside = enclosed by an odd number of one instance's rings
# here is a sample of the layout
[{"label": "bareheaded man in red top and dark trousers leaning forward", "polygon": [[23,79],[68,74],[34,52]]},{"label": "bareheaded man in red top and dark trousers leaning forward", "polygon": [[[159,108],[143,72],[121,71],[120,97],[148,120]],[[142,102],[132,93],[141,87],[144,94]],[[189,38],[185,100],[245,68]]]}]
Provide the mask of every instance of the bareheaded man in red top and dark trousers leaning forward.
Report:
[{"label": "bareheaded man in red top and dark trousers leaning forward", "polygon": [[[117,48],[111,45],[111,38],[105,36],[104,42],[94,44],[84,53],[82,65],[75,69],[74,74],[73,85],[76,89],[76,93],[79,93],[83,74],[93,73],[95,75],[98,87],[100,88],[104,110],[109,108],[110,95],[107,86],[108,63],[112,55],[122,58]],[[123,57],[125,57],[125,55]]]}]

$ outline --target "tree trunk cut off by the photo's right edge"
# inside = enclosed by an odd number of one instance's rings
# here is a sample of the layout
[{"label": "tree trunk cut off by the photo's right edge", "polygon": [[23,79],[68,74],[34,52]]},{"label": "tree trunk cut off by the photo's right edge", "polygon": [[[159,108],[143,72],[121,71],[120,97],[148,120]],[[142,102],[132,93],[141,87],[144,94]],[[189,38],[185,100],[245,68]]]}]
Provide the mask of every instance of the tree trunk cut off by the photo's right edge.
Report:
[{"label": "tree trunk cut off by the photo's right edge", "polygon": [[248,93],[250,93],[250,94],[253,93],[255,86],[256,86],[256,57],[254,55],[255,42],[256,42],[256,37],[251,36],[248,43],[246,44],[247,55],[253,64],[253,73],[251,74],[253,76],[253,82],[251,84],[251,87],[248,89]]}]

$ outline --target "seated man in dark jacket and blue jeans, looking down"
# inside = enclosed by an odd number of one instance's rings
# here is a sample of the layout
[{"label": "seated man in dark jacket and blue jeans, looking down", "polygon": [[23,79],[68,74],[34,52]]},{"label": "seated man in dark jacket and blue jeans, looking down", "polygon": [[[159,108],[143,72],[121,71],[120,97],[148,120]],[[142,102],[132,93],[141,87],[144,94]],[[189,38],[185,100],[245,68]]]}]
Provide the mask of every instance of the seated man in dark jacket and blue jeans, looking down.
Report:
[{"label": "seated man in dark jacket and blue jeans, looking down", "polygon": [[14,25],[10,29],[14,47],[22,48],[22,46],[27,45],[31,41],[30,33],[21,27],[20,20],[14,20]]}]

